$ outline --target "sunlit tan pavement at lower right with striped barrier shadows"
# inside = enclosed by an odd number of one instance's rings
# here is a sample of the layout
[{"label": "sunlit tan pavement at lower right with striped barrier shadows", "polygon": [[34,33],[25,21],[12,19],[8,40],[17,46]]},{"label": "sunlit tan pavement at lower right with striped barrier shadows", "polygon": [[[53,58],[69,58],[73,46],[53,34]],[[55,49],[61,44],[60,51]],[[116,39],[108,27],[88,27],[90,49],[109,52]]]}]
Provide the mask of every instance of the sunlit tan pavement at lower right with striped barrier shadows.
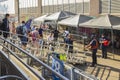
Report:
[{"label": "sunlit tan pavement at lower right with striped barrier shadows", "polygon": [[120,55],[108,52],[108,58],[101,58],[101,51],[97,54],[98,64],[95,67],[90,67],[91,53],[87,53],[87,65],[74,65],[86,71],[88,74],[98,77],[100,80],[120,80]]}]

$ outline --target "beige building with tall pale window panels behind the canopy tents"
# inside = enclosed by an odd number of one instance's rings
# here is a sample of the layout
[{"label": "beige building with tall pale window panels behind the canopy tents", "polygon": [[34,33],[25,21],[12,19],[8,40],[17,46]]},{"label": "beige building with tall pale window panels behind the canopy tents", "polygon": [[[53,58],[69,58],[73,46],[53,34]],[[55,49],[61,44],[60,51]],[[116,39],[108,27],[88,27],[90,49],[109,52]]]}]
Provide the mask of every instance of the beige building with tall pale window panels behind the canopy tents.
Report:
[{"label": "beige building with tall pale window panels behind the canopy tents", "polygon": [[[15,0],[16,15],[18,14],[17,1]],[[31,3],[36,3],[36,6],[29,6]],[[120,0],[20,0],[20,4],[20,16],[24,20],[61,10],[91,16],[120,15]]]}]

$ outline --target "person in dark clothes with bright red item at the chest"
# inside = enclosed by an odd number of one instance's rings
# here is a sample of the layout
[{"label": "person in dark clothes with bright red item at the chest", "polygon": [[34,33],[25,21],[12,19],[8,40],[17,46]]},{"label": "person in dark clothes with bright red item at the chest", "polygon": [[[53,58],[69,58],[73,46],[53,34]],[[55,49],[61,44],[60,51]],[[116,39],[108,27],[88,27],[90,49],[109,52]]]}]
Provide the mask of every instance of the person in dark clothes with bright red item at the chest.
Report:
[{"label": "person in dark clothes with bright red item at the chest", "polygon": [[109,45],[108,39],[105,37],[105,34],[102,34],[101,39],[100,39],[100,47],[102,49],[102,58],[106,59],[107,58],[107,47]]}]

